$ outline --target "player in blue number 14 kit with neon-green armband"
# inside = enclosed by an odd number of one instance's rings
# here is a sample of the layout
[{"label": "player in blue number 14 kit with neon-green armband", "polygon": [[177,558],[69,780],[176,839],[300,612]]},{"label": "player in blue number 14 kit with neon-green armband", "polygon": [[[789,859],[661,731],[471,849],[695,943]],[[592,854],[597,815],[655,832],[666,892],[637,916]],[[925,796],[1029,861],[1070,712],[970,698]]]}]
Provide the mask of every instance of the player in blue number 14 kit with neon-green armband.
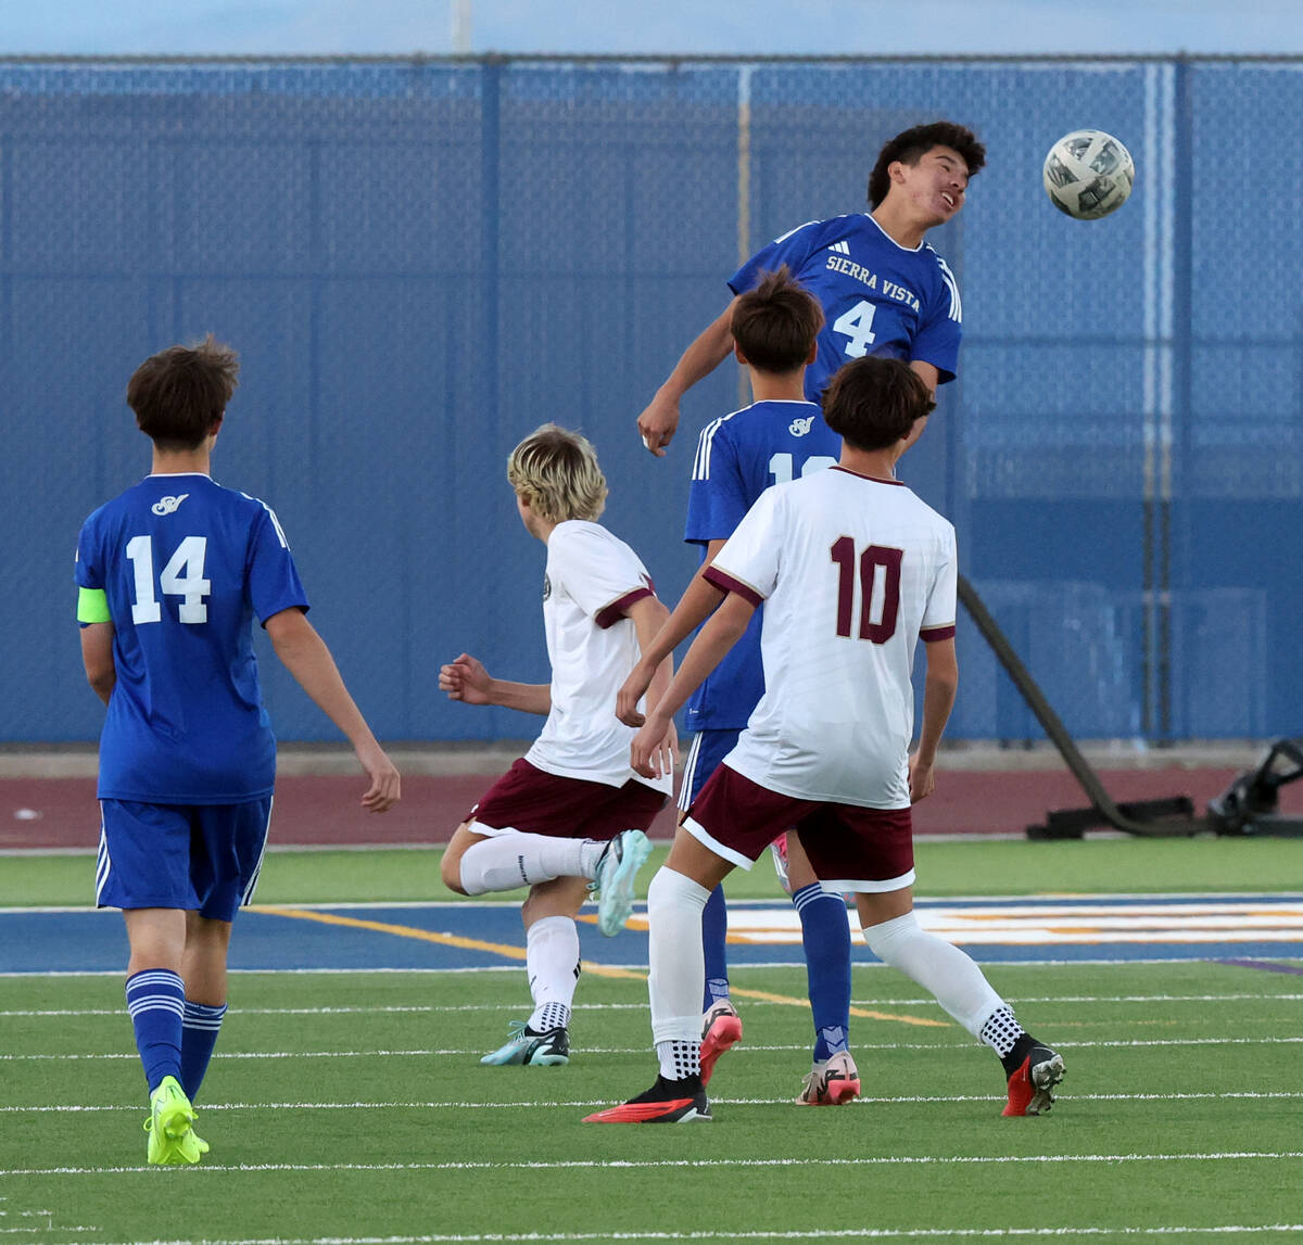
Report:
[{"label": "player in blue number 14 kit with neon-green armband", "polygon": [[383,813],[399,774],[306,619],[285,534],[257,497],[214,483],[212,445],[238,362],[210,336],[134,372],[126,401],[152,470],[102,505],[77,542],[86,677],[108,706],[99,741],[95,902],[121,908],[126,1011],[150,1091],[146,1158],[198,1163],[193,1099],[227,1011],[227,948],[253,899],[271,818],[276,741],[251,628],[348,737]]}]

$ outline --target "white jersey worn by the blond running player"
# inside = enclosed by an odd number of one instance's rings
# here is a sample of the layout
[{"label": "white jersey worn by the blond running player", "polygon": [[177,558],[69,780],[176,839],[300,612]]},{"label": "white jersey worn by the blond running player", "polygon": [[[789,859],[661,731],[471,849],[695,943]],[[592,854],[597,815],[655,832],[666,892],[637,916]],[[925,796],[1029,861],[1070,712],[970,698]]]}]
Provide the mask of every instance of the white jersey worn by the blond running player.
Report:
[{"label": "white jersey worn by the blond running player", "polygon": [[552,529],[543,576],[552,708],[525,754],[532,766],[609,787],[637,779],[670,793],[672,775],[645,779],[629,767],[637,732],[615,716],[615,693],[640,655],[625,611],[654,595],[638,555],[599,524],[572,518]]}]

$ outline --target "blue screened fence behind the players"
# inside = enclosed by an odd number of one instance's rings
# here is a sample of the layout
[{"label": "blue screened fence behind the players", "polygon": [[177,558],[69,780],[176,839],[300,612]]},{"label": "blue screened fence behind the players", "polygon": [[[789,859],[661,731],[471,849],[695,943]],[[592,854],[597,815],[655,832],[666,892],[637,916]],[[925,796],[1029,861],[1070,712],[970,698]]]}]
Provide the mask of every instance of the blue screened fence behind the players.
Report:
[{"label": "blue screened fence behind the players", "polygon": [[[276,508],[378,733],[530,734],[437,689],[463,650],[546,677],[507,452],[582,428],[606,521],[676,599],[692,439],[736,370],[689,395],[666,460],[635,417],[723,307],[739,233],[859,210],[881,142],[937,116],[989,164],[934,237],[962,378],[903,475],[1075,733],[1296,733],[1299,69],[0,63],[0,740],[96,736],[76,533],[147,470],[126,378],[208,331],[244,361],[214,474]],[[1040,189],[1081,125],[1138,163],[1102,221]],[[960,660],[952,736],[1038,736],[971,626]],[[334,737],[263,669],[283,738]]]}]

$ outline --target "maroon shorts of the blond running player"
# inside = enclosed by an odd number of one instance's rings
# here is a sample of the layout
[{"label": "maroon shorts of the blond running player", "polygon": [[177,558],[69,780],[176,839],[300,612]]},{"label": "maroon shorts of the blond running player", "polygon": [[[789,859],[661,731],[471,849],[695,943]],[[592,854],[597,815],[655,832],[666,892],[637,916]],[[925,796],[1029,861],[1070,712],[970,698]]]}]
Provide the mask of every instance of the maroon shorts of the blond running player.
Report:
[{"label": "maroon shorts of the blond running player", "polygon": [[485,793],[468,822],[477,835],[519,830],[552,839],[614,839],[622,830],[646,830],[665,804],[646,783],[623,787],[562,777],[532,766],[524,757]]}]

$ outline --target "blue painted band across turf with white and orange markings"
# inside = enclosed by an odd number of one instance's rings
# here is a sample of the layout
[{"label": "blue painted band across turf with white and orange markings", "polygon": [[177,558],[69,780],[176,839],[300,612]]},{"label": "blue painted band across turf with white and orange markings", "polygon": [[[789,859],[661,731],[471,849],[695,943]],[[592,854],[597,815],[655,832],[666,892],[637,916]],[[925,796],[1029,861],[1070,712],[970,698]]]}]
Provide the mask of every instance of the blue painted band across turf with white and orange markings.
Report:
[{"label": "blue painted band across turf with white and orange markings", "polygon": [[[1303,895],[1038,896],[920,900],[920,922],[982,964],[1303,958]],[[853,925],[853,919],[852,919]],[[857,926],[855,926],[857,930]],[[580,953],[644,968],[645,908],[603,938],[580,919]],[[523,965],[515,904],[347,904],[261,908],[240,914],[235,970],[473,970]],[[801,964],[791,905],[730,905],[730,962]],[[857,961],[873,962],[856,938]],[[117,912],[0,910],[0,973],[113,973],[126,964]]]}]

